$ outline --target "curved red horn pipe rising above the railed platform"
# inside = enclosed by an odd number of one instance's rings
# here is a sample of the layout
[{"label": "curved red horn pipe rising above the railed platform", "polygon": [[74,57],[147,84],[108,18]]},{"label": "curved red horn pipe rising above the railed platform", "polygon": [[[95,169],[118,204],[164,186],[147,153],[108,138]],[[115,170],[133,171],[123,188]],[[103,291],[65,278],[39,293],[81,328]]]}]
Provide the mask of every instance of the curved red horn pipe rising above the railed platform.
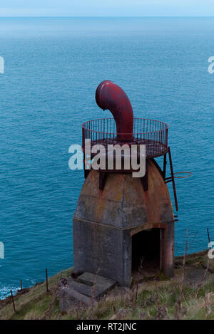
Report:
[{"label": "curved red horn pipe rising above the railed platform", "polygon": [[121,87],[105,80],[96,89],[96,103],[103,110],[110,110],[116,122],[117,139],[133,139],[133,109]]}]

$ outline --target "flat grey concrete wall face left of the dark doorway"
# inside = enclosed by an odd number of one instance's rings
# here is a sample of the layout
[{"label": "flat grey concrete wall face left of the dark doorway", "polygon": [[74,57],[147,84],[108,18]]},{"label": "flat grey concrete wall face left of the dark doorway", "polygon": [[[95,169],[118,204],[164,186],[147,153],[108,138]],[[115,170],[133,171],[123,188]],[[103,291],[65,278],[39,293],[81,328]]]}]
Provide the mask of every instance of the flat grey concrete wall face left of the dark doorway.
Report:
[{"label": "flat grey concrete wall face left of the dark doorway", "polygon": [[120,281],[125,249],[128,248],[126,234],[126,231],[111,226],[73,219],[74,271],[98,272]]}]

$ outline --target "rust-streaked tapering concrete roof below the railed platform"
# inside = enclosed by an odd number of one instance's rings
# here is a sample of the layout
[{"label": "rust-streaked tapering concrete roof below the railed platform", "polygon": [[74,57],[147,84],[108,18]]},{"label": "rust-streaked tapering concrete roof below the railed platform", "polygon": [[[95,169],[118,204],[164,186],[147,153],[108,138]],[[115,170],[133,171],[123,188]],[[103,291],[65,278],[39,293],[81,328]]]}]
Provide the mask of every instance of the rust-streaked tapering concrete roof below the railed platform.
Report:
[{"label": "rust-streaked tapering concrete roof below the railed platform", "polygon": [[127,229],[146,223],[167,224],[174,216],[168,187],[153,161],[148,160],[147,191],[140,178],[127,173],[109,173],[101,190],[99,173],[91,170],[73,218]]}]

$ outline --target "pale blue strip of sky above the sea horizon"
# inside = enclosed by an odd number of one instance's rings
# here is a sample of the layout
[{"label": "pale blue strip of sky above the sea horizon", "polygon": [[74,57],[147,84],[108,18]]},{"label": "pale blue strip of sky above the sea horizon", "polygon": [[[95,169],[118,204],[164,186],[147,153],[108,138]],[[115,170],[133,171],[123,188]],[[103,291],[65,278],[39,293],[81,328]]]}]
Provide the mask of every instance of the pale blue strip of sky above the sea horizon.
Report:
[{"label": "pale blue strip of sky above the sea horizon", "polygon": [[0,0],[0,16],[214,16],[214,0]]}]

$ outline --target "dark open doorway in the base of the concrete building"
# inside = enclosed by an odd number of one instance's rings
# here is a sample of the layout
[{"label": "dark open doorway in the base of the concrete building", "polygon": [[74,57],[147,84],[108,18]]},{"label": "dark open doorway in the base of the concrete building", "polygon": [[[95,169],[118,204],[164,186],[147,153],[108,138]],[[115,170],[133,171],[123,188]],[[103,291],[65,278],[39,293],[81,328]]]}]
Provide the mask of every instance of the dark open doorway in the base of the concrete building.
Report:
[{"label": "dark open doorway in the base of the concrete building", "polygon": [[156,273],[161,269],[161,229],[143,230],[132,236],[132,271]]}]

